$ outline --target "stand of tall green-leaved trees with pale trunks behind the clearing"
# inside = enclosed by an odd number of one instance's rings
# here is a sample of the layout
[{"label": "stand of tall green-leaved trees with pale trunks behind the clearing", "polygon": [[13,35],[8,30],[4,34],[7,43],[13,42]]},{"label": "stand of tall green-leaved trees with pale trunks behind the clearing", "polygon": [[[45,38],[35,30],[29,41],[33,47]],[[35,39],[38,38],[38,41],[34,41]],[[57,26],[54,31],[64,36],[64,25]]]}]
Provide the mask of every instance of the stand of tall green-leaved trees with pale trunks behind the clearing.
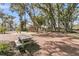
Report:
[{"label": "stand of tall green-leaved trees with pale trunks behind the clearing", "polygon": [[[36,31],[41,28],[41,25],[50,27],[50,31],[60,31],[61,28],[64,32],[72,31],[74,22],[74,15],[77,12],[77,5],[75,3],[46,3],[46,4],[11,4],[11,10],[17,11],[20,16],[20,29],[25,31],[25,21],[23,16],[27,12],[31,21],[33,22]],[[35,12],[39,10],[39,14]],[[44,17],[43,17],[44,16]],[[26,18],[26,17],[25,17]],[[58,28],[57,28],[58,27]],[[49,29],[46,29],[49,30]]]}]

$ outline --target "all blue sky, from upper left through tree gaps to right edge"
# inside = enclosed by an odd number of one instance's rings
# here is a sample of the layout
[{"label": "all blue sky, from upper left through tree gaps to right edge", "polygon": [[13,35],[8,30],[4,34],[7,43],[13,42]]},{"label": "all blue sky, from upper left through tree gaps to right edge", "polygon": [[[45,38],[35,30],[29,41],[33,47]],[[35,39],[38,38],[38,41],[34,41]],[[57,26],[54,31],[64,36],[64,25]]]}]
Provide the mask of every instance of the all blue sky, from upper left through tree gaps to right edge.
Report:
[{"label": "all blue sky, from upper left through tree gaps to right edge", "polygon": [[[78,5],[79,6],[79,5]],[[17,12],[12,12],[10,10],[10,4],[7,3],[7,4],[0,4],[0,9],[3,13],[5,14],[8,14],[8,15],[12,15],[15,17],[14,21],[15,23],[19,23],[19,16],[18,16],[18,13]],[[39,14],[39,12],[36,10],[36,13]],[[29,19],[29,16],[26,14],[26,18],[28,21],[30,21]],[[79,23],[79,19],[77,19],[74,24],[78,24]]]}]

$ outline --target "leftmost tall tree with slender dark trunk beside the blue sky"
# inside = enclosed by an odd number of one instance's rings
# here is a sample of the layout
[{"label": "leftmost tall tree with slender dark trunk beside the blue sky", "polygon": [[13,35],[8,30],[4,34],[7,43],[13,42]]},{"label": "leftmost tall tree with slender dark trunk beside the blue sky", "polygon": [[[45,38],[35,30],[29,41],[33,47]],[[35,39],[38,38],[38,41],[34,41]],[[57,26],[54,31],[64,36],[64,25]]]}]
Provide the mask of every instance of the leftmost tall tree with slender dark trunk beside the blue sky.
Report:
[{"label": "leftmost tall tree with slender dark trunk beside the blue sky", "polygon": [[20,31],[23,30],[22,27],[22,20],[23,20],[23,15],[25,15],[25,4],[24,3],[13,3],[11,4],[11,10],[12,11],[17,11],[20,17]]}]

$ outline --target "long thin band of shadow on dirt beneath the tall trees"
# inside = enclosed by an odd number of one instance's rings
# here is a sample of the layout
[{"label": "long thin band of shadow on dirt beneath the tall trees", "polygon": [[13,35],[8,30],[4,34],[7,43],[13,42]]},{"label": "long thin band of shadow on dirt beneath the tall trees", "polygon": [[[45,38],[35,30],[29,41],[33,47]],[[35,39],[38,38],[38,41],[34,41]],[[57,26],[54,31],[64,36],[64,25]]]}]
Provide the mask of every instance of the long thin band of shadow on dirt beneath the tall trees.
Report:
[{"label": "long thin band of shadow on dirt beneath the tall trees", "polygon": [[61,32],[47,32],[47,33],[37,33],[32,34],[32,36],[39,36],[39,37],[71,37],[75,39],[79,39],[79,33],[73,32],[73,33],[61,33]]}]

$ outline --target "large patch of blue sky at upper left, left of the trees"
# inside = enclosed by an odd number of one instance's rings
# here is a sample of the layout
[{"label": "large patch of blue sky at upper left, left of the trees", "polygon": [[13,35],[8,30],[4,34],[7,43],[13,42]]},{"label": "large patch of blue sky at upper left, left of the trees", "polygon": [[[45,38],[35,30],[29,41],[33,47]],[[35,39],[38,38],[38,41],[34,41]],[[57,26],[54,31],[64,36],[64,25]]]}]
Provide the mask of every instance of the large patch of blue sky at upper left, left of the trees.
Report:
[{"label": "large patch of blue sky at upper left, left of the trees", "polygon": [[18,14],[16,12],[10,11],[10,4],[0,4],[0,9],[3,13],[14,16],[15,17],[14,20],[16,23],[19,22]]}]

